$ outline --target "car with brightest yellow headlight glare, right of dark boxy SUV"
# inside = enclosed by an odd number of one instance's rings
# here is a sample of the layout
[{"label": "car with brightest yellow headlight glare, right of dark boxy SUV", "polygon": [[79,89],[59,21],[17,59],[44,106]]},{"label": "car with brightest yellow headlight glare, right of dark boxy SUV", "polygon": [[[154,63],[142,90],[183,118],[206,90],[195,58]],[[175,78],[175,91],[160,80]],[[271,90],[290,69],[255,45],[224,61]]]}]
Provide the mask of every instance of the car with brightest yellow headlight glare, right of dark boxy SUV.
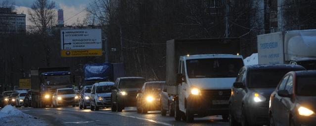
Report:
[{"label": "car with brightest yellow headlight glare, right of dark boxy SUV", "polygon": [[146,82],[136,95],[137,113],[146,114],[148,111],[160,110],[159,95],[166,82]]}]

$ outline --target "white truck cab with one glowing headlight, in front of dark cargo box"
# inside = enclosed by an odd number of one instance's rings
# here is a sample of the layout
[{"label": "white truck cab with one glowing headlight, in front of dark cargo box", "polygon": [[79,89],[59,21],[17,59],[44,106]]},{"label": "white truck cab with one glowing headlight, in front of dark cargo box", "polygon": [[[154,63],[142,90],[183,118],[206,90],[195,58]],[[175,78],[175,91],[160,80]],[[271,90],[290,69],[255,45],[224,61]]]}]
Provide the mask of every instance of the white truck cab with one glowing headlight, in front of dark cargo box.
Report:
[{"label": "white truck cab with one glowing headlight, in front of dark cargo box", "polygon": [[181,56],[175,103],[176,120],[192,122],[194,117],[222,115],[228,117],[231,86],[243,67],[238,55],[206,54]]}]

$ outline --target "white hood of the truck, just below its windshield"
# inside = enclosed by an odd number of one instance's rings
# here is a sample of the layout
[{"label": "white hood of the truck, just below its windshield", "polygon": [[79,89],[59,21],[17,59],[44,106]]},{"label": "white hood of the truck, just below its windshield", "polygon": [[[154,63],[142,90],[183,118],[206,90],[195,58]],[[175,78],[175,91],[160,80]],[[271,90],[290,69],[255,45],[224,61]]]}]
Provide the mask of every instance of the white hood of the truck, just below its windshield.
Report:
[{"label": "white hood of the truck, just below its windshield", "polygon": [[232,77],[232,78],[191,78],[188,80],[188,83],[202,90],[231,89],[231,86],[235,80],[236,80],[235,77]]}]

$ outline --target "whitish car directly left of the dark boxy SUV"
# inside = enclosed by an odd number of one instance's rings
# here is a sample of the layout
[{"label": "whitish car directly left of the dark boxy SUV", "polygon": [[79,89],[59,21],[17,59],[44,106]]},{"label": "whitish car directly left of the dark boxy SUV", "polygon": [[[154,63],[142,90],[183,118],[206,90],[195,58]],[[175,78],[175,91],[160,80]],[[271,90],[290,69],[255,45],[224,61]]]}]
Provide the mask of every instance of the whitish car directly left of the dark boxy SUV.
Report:
[{"label": "whitish car directly left of the dark boxy SUV", "polygon": [[111,106],[111,92],[113,82],[94,83],[91,89],[90,110],[99,110],[99,107]]}]

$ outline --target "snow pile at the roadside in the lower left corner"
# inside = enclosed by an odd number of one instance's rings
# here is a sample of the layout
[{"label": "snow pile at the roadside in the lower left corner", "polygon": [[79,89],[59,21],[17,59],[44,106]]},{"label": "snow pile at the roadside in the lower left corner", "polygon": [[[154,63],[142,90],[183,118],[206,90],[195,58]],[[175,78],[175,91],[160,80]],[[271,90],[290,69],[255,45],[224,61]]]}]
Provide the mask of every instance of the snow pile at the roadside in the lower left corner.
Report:
[{"label": "snow pile at the roadside in the lower left corner", "polygon": [[44,121],[6,105],[0,111],[0,126],[47,126]]}]

